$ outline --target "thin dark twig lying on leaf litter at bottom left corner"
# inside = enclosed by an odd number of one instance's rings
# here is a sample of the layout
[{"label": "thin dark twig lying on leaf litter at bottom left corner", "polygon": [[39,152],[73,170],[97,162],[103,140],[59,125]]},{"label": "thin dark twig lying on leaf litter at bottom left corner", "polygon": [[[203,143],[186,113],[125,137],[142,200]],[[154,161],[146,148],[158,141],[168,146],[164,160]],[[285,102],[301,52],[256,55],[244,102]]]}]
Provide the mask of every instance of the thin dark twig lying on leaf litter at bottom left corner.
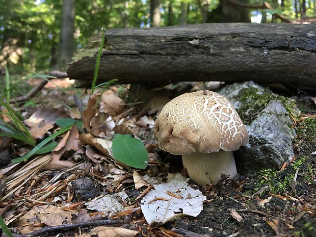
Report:
[{"label": "thin dark twig lying on leaf litter at bottom left corner", "polygon": [[73,229],[77,227],[109,226],[109,225],[123,224],[123,223],[124,221],[122,220],[95,220],[95,221],[81,222],[81,223],[74,223],[74,224],[67,224],[67,225],[47,226],[39,230],[33,231],[31,233],[15,234],[14,237],[38,236],[47,232],[62,231],[62,230]]}]

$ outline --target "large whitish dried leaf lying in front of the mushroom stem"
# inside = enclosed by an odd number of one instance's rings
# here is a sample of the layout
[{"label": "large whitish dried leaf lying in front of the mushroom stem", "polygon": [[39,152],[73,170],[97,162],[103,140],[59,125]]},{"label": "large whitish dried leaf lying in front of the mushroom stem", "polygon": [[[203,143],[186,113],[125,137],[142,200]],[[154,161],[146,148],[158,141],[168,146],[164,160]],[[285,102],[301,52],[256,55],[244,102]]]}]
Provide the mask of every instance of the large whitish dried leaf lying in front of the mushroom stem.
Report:
[{"label": "large whitish dried leaf lying in front of the mushroom stem", "polygon": [[199,190],[191,188],[179,173],[167,183],[154,185],[141,201],[141,209],[146,221],[166,223],[178,216],[189,215],[196,217],[203,209],[206,197]]}]

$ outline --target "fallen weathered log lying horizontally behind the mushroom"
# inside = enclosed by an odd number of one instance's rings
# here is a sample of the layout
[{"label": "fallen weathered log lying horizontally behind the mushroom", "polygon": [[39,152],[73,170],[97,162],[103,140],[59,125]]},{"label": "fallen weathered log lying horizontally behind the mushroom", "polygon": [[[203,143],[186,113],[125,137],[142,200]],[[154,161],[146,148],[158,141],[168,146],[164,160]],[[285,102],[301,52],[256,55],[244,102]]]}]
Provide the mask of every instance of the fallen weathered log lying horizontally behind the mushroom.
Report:
[{"label": "fallen weathered log lying horizontally behind the mushroom", "polygon": [[[217,23],[106,32],[98,83],[281,82],[316,86],[316,25]],[[100,40],[78,52],[70,78],[91,85]]]}]

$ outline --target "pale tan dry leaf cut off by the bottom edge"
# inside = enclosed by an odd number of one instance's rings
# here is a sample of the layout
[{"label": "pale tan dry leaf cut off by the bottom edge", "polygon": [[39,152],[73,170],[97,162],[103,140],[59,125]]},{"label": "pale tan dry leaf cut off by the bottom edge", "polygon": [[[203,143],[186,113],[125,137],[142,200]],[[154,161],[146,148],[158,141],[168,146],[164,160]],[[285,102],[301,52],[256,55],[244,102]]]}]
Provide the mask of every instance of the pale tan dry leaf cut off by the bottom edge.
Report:
[{"label": "pale tan dry leaf cut off by the bottom edge", "polygon": [[97,235],[98,237],[133,237],[138,234],[139,231],[126,229],[122,227],[108,227],[98,226],[90,230],[89,233],[84,233],[81,237],[91,237]]}]

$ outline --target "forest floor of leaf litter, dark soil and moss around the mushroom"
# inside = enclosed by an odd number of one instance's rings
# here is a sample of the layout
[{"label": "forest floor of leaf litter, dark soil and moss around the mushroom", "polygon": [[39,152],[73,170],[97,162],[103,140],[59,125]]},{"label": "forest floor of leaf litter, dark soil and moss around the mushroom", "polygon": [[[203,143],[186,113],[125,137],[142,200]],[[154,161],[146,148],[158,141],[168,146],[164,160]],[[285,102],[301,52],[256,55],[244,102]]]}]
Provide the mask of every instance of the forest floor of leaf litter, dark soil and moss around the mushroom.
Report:
[{"label": "forest floor of leaf litter, dark soil and moss around the mushroom", "polygon": [[[70,86],[64,80],[55,83],[62,87]],[[119,87],[104,93],[116,95],[118,92],[124,94]],[[62,91],[52,84],[46,85],[34,98],[42,102],[41,106],[21,107],[22,114],[27,119],[40,109],[75,108],[73,94],[86,97],[83,100],[87,102],[87,92],[84,90],[68,88]],[[16,165],[10,163],[10,159],[30,148],[16,141],[8,142],[9,145],[5,146],[5,139],[2,138],[0,213],[13,234],[21,237],[30,234],[78,236],[83,233],[86,233],[85,236],[99,237],[135,234],[175,237],[316,236],[316,103],[315,98],[302,91],[291,93],[302,114],[297,121],[295,159],[287,167],[278,171],[266,169],[253,174],[238,174],[234,179],[223,177],[217,185],[211,186],[198,187],[189,181],[188,187],[199,189],[206,197],[201,213],[197,217],[181,216],[162,225],[149,225],[140,205],[142,198],[153,189],[151,181],[154,179],[163,183],[170,173],[186,174],[181,157],[161,151],[154,141],[152,125],[156,110],[165,103],[165,95],[163,97],[150,100],[151,111],[137,104],[122,110],[117,108],[119,100],[110,106],[115,111],[112,116],[115,125],[123,125],[125,133],[127,128],[127,133],[133,133],[144,142],[149,155],[146,169],[125,166],[114,161],[109,150],[102,153],[93,142],[83,141],[77,149],[69,148],[58,157],[72,162],[74,166],[61,169],[51,165],[51,155],[37,155],[26,164]],[[91,121],[97,114],[94,113]],[[53,133],[55,128],[56,125],[47,128],[44,137]],[[107,129],[111,132],[113,127]],[[113,136],[103,132],[106,138]],[[83,131],[79,130],[78,133]],[[68,141],[71,136],[70,133]],[[59,137],[57,140],[61,141]],[[64,142],[63,145],[66,147],[69,144]],[[6,191],[4,186],[7,187]],[[98,203],[99,209],[88,205],[94,197],[109,195],[112,201],[116,198],[123,208],[115,209],[114,201],[104,206]],[[108,209],[104,209],[106,207]],[[124,229],[94,228],[104,225]]]}]

